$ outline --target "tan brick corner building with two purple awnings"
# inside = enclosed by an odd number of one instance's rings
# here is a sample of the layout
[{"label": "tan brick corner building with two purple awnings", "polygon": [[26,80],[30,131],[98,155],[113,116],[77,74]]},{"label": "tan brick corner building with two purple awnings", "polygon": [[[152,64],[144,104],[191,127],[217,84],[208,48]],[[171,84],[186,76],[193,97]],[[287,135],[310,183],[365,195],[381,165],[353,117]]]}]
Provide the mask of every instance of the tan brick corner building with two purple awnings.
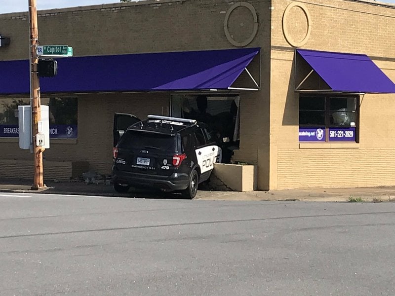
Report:
[{"label": "tan brick corner building with two purple awnings", "polygon": [[[257,166],[258,189],[395,185],[395,5],[146,0],[38,14],[40,44],[74,48],[73,58],[58,60],[58,76],[40,79],[54,117],[44,179],[109,174],[115,112],[182,115],[178,104],[204,94],[215,113],[220,102],[237,102],[232,162]],[[0,35],[10,38],[0,47],[0,176],[31,178],[32,155],[12,129],[15,106],[29,104],[27,12],[0,14]],[[191,72],[174,74],[172,86],[147,82],[182,69],[180,54],[191,51]],[[139,68],[143,53],[149,62]],[[171,63],[154,53],[171,53]],[[242,60],[232,83],[184,86],[186,75],[213,69],[235,75],[228,55]],[[197,66],[217,56],[225,72]],[[129,72],[117,72],[119,61]]]}]

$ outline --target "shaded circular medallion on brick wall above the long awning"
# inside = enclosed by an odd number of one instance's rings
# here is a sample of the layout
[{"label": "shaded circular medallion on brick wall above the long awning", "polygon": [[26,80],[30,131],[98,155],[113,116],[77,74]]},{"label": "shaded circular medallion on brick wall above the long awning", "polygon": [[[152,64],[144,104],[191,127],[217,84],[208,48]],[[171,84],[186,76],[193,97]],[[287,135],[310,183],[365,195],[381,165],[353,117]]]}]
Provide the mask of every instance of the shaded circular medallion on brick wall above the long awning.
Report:
[{"label": "shaded circular medallion on brick wall above the long awning", "polygon": [[248,45],[258,32],[258,16],[254,6],[247,2],[233,4],[225,15],[224,30],[231,44],[237,47]]}]

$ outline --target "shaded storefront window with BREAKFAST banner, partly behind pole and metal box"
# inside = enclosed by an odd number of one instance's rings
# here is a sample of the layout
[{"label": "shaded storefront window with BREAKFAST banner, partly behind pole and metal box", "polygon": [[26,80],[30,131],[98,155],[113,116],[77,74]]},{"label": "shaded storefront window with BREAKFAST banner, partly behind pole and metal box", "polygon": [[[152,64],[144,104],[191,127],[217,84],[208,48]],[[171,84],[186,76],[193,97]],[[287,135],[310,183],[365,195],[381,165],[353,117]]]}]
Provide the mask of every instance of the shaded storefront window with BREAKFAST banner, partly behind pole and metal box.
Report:
[{"label": "shaded storefront window with BREAKFAST banner, partly behind pole and metal box", "polygon": [[[30,105],[30,99],[0,99],[0,137],[18,137],[18,106]],[[78,102],[76,97],[41,98],[41,105],[49,106],[49,137],[77,139]]]}]

